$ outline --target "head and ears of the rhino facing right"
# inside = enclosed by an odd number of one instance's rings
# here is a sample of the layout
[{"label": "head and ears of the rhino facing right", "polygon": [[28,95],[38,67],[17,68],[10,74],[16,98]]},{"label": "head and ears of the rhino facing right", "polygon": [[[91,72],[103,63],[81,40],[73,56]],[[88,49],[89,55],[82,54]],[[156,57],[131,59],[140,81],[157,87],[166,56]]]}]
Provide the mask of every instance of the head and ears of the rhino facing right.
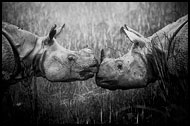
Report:
[{"label": "head and ears of the rhino facing right", "polygon": [[43,51],[39,50],[42,55],[38,63],[42,75],[50,81],[65,82],[93,77],[98,64],[93,51],[89,48],[80,51],[63,48],[54,37],[60,34],[64,25],[58,30],[55,27],[47,37],[38,40],[40,45],[43,43]]}]

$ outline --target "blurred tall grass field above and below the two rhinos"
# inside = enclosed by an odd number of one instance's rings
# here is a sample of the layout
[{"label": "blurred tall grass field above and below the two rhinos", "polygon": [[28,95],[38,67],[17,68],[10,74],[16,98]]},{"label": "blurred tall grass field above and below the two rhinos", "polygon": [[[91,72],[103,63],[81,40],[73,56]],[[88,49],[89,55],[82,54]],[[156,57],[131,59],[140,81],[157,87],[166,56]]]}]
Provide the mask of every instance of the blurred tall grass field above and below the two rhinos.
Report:
[{"label": "blurred tall grass field above and below the two rhinos", "polygon": [[[54,24],[65,23],[58,42],[71,50],[88,45],[97,57],[102,48],[114,58],[128,52],[130,42],[120,34],[124,24],[148,37],[186,14],[188,3],[180,2],[2,3],[2,21],[39,36],[47,35]],[[144,89],[109,91],[97,87],[94,78],[69,83],[31,79],[12,85],[6,93],[15,123],[166,125],[188,121],[186,107],[168,99],[167,89],[158,82]]]}]

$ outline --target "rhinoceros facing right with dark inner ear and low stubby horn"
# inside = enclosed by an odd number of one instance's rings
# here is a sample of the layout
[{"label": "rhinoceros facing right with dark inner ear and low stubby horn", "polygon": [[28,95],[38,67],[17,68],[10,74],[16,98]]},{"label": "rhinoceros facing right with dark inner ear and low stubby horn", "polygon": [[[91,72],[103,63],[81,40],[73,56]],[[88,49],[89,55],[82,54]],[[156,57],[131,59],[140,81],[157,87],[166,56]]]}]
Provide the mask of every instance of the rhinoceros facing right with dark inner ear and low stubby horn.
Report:
[{"label": "rhinoceros facing right with dark inner ear and low stubby horn", "polygon": [[39,37],[15,25],[2,22],[2,80],[13,84],[28,76],[41,76],[52,82],[86,80],[97,72],[92,50],[71,51],[55,39],[65,24]]}]

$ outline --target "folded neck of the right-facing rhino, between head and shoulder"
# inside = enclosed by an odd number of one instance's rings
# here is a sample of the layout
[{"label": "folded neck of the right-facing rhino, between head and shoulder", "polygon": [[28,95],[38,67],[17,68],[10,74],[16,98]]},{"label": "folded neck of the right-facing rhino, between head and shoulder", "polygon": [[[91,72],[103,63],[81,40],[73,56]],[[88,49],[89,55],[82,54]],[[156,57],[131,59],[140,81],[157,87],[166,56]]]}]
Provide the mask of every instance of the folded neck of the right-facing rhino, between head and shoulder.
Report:
[{"label": "folded neck of the right-facing rhino, between head and shoulder", "polygon": [[17,54],[16,64],[20,66],[13,79],[21,80],[30,76],[33,73],[33,58],[30,55],[36,47],[38,36],[5,22],[2,22],[2,31],[9,38],[9,43]]}]

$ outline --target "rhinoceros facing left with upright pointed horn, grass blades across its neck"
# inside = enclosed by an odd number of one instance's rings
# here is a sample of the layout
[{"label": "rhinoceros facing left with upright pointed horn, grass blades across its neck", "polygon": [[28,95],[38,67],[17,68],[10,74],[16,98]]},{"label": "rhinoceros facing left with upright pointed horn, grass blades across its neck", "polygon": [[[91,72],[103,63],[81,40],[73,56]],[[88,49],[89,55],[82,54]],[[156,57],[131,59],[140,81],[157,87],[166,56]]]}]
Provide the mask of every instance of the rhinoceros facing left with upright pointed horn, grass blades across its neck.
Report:
[{"label": "rhinoceros facing left with upright pointed horn, grass blades across its neck", "polygon": [[187,80],[188,15],[148,38],[126,25],[121,32],[133,44],[127,54],[117,59],[105,58],[102,50],[96,75],[98,86],[127,90],[145,87],[156,80],[167,81],[166,76]]}]

